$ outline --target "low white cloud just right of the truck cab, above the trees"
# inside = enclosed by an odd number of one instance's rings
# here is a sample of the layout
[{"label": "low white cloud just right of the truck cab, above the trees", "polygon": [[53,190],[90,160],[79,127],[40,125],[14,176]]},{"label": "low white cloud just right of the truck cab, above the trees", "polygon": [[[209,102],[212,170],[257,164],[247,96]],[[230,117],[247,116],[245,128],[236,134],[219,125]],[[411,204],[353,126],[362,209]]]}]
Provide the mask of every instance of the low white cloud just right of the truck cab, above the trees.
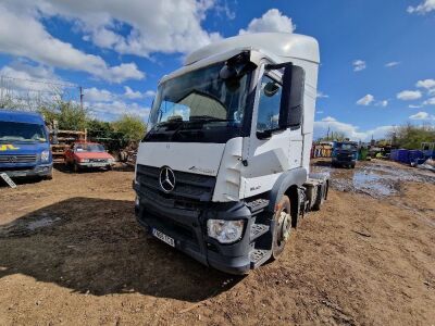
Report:
[{"label": "low white cloud just right of the truck cab, above the trees", "polygon": [[351,140],[368,141],[372,138],[372,136],[375,139],[384,138],[388,134],[388,131],[391,130],[391,128],[393,126],[380,126],[374,129],[361,131],[358,126],[339,122],[332,116],[326,116],[321,121],[314,122],[314,136],[323,137],[326,135],[327,130],[330,130],[334,133],[344,133],[345,136]]}]

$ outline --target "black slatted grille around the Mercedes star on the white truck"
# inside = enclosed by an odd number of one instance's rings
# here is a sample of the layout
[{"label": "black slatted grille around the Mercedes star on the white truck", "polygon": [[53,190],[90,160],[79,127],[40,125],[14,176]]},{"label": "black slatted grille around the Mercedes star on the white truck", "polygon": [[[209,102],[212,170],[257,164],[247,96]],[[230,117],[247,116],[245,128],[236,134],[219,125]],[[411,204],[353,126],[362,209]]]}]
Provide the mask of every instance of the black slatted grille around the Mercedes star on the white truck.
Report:
[{"label": "black slatted grille around the Mercedes star on the white truck", "polygon": [[210,202],[213,196],[215,177],[174,171],[175,188],[165,193],[159,181],[160,168],[137,165],[136,180],[141,190],[156,201],[171,202],[175,206],[195,209]]}]

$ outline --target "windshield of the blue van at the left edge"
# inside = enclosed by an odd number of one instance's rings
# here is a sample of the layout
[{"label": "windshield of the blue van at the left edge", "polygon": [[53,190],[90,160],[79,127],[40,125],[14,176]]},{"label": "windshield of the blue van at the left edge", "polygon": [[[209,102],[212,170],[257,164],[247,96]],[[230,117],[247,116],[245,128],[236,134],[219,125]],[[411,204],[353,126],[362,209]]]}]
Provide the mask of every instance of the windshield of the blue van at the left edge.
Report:
[{"label": "windshield of the blue van at the left edge", "polygon": [[45,126],[0,121],[0,141],[47,141]]}]

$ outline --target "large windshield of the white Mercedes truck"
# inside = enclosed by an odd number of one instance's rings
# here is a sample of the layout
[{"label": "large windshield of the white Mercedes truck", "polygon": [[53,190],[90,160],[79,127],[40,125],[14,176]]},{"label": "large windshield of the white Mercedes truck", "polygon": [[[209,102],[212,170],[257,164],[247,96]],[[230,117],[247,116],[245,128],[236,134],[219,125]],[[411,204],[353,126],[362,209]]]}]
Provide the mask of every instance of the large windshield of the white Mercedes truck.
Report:
[{"label": "large windshield of the white Mercedes truck", "polygon": [[144,141],[226,142],[240,134],[251,72],[224,80],[224,62],[159,86]]}]

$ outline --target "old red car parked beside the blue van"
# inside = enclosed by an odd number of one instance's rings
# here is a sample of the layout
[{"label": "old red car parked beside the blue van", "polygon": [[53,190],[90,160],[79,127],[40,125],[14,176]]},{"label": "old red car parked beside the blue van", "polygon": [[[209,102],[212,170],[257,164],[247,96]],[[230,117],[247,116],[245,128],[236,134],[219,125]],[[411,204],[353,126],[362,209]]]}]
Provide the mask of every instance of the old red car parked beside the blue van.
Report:
[{"label": "old red car parked beside the blue van", "polygon": [[114,163],[115,159],[97,142],[75,142],[65,152],[65,164],[75,172],[87,167],[111,170]]}]

